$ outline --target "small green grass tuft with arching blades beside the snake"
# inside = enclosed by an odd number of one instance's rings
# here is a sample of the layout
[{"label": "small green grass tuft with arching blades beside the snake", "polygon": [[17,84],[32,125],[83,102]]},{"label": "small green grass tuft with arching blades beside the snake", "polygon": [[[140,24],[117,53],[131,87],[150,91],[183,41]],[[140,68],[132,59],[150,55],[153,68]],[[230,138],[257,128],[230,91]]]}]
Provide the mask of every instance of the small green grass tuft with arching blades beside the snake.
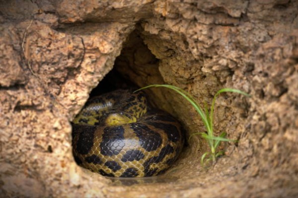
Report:
[{"label": "small green grass tuft with arching blades beside the snake", "polygon": [[[204,126],[207,130],[207,133],[205,132],[197,132],[192,134],[189,139],[194,136],[194,135],[201,135],[201,137],[203,139],[205,139],[208,142],[208,145],[210,147],[210,151],[205,152],[202,157],[201,157],[201,165],[203,166],[204,163],[209,162],[210,160],[212,160],[213,164],[216,162],[217,158],[221,155],[224,154],[223,150],[218,150],[217,148],[219,147],[221,142],[234,142],[234,140],[230,140],[225,138],[226,137],[226,133],[222,132],[219,136],[214,136],[214,129],[213,129],[213,113],[214,113],[214,106],[215,106],[215,100],[216,98],[224,92],[233,92],[233,93],[237,93],[237,94],[242,94],[244,96],[250,97],[250,95],[240,91],[240,90],[236,90],[236,89],[230,89],[230,88],[224,88],[219,90],[216,95],[214,96],[213,100],[212,100],[212,104],[211,107],[208,108],[207,104],[204,104],[204,108],[202,108],[202,106],[186,91],[182,90],[181,88],[172,86],[172,85],[149,85],[146,87],[143,87],[137,91],[140,90],[144,90],[147,88],[152,88],[152,87],[165,87],[171,90],[174,90],[175,92],[177,92],[178,94],[180,94],[183,98],[185,98],[187,101],[189,101],[191,103],[191,105],[193,105],[193,107],[196,109],[196,111],[198,112],[198,114],[200,115]],[[137,92],[135,91],[135,92]]]}]

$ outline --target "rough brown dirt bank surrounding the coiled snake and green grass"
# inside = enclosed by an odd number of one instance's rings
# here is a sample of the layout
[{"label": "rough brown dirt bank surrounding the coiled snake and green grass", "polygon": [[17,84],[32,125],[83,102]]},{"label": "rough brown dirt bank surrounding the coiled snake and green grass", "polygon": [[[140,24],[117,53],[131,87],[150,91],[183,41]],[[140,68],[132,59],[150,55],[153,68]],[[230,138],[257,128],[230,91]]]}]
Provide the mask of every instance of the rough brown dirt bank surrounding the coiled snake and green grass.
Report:
[{"label": "rough brown dirt bank surrounding the coiled snake and green grass", "polygon": [[[104,77],[208,104],[225,87],[249,93],[216,103],[216,135],[238,141],[207,169],[193,136],[163,175],[91,173],[74,162],[70,122]],[[187,139],[205,131],[176,93],[147,94]],[[0,197],[297,196],[297,0],[0,0]]]}]

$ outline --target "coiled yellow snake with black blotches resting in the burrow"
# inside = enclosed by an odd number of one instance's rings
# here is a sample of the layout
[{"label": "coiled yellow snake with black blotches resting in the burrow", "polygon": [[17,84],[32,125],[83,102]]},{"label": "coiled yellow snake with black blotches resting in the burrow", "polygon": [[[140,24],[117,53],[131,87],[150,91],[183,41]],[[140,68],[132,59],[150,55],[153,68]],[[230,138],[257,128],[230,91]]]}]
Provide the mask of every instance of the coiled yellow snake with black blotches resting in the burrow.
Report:
[{"label": "coiled yellow snake with black blotches resting in the burrow", "polygon": [[184,144],[181,124],[148,104],[143,91],[93,97],[72,123],[75,162],[107,177],[150,177],[166,171]]}]

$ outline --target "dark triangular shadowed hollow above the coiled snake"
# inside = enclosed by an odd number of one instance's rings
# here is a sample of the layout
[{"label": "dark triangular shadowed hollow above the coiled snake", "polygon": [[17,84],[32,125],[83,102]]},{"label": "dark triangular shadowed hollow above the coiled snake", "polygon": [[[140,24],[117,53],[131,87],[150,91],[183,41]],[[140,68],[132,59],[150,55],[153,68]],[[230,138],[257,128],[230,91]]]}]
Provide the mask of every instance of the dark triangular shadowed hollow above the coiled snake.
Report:
[{"label": "dark triangular shadowed hollow above the coiled snake", "polygon": [[161,79],[158,61],[140,34],[134,31],[124,43],[113,69],[92,90],[90,98],[117,89],[141,88],[148,85],[146,77],[156,76]]}]

